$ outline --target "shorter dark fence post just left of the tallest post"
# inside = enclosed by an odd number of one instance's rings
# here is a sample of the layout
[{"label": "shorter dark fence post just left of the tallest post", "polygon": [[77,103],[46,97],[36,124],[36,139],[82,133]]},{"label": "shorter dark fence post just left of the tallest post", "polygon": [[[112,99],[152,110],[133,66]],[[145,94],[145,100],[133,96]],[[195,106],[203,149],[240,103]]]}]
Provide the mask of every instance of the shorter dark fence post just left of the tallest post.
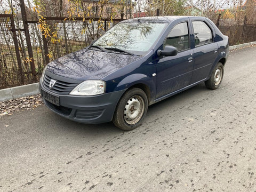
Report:
[{"label": "shorter dark fence post just left of the tallest post", "polygon": [[15,30],[13,15],[10,15],[10,19],[11,19],[11,26],[12,26],[12,39],[13,39],[13,43],[14,43],[14,47],[15,47],[15,53],[16,53],[17,62],[18,62],[18,66],[19,66],[20,81],[21,81],[22,84],[24,84],[24,76],[23,76],[23,73],[22,73],[19,45],[18,45],[18,39],[17,39],[16,30]]}]

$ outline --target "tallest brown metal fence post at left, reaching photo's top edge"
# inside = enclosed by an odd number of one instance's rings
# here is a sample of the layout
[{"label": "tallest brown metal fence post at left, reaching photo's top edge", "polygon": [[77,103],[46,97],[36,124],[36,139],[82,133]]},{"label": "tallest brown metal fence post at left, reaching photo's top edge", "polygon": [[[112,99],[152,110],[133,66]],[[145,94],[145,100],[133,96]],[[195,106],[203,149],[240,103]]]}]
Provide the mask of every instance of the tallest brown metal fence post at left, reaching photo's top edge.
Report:
[{"label": "tallest brown metal fence post at left, reaching photo's top edge", "polygon": [[27,13],[26,13],[26,9],[25,9],[24,0],[20,0],[20,9],[21,9],[23,26],[25,29],[26,42],[27,42],[27,46],[28,46],[28,57],[29,57],[29,61],[30,61],[31,73],[33,75],[33,81],[36,82],[35,61],[34,61],[34,57],[33,57],[33,50],[32,50],[30,36],[29,36]]}]

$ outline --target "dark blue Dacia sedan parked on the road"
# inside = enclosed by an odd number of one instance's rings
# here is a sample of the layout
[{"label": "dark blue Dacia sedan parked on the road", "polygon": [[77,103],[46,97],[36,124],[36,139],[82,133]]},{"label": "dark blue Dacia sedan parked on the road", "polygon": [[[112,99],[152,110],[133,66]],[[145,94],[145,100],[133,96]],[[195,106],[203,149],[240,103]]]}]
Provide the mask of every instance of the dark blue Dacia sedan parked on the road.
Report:
[{"label": "dark blue Dacia sedan parked on the road", "polygon": [[217,89],[228,37],[204,17],[125,20],[83,50],[47,65],[43,101],[76,122],[138,127],[149,105],[201,82]]}]

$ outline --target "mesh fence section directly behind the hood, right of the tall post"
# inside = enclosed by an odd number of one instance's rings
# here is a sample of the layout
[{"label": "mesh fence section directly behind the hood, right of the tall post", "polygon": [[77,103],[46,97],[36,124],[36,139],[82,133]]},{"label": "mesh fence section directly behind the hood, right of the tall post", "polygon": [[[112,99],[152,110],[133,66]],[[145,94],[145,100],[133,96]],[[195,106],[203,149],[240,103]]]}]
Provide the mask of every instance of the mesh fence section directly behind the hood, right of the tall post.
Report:
[{"label": "mesh fence section directly behind the hood, right of the tall post", "polygon": [[122,20],[46,18],[47,25],[53,33],[57,34],[59,40],[52,41],[51,37],[44,40],[46,63],[83,49],[120,21]]}]

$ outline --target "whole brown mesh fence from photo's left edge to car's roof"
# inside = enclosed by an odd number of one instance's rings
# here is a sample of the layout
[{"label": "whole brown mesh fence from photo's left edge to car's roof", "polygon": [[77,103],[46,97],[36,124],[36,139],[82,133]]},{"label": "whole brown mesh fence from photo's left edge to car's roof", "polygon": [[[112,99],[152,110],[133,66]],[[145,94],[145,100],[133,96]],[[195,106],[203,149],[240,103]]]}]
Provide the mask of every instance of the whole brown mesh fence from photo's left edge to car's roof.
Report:
[{"label": "whole brown mesh fence from photo's left edge to car's roof", "polygon": [[14,21],[13,15],[0,14],[0,89],[38,82],[47,63],[83,49],[120,21],[46,18],[58,40],[53,41],[44,37],[38,21]]}]

